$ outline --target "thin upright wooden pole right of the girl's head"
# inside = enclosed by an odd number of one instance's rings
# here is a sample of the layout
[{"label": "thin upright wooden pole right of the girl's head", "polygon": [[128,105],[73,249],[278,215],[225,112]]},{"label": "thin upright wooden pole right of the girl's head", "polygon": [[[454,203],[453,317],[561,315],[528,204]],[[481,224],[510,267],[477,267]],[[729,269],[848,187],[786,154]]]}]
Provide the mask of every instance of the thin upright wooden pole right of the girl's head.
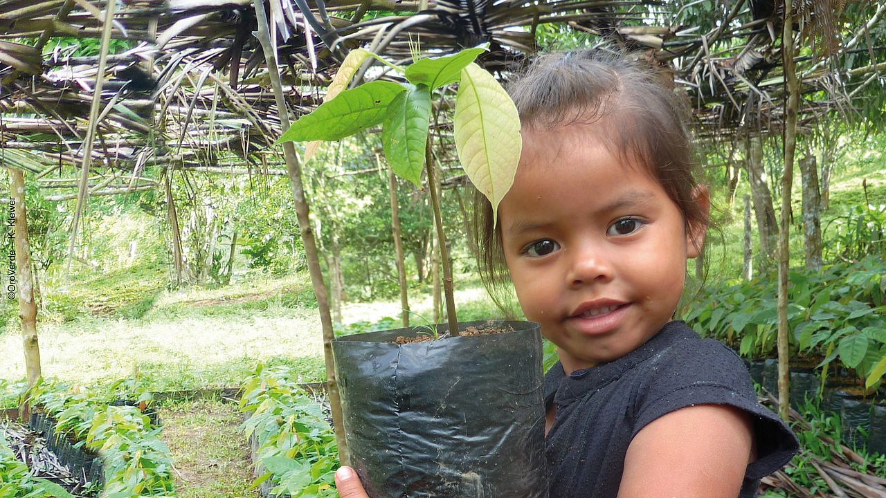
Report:
[{"label": "thin upright wooden pole right of the girl's head", "polygon": [[778,258],[778,412],[785,422],[789,420],[788,373],[788,273],[790,269],[790,187],[794,177],[794,152],[797,149],[797,111],[800,107],[800,83],[794,62],[794,16],[787,4],[784,9],[784,27],[781,33],[781,57],[784,64],[788,101],[784,126],[784,174],[781,176],[781,230]]}]

